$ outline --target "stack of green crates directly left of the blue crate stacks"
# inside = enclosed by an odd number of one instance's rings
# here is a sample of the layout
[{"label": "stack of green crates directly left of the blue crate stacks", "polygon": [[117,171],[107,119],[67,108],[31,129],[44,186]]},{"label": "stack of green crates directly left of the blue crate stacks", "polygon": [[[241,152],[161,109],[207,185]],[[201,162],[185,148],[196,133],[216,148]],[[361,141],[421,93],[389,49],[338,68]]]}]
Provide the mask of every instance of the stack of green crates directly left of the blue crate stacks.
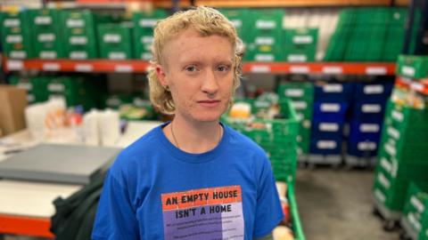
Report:
[{"label": "stack of green crates directly left of the blue crate stacks", "polygon": [[297,137],[298,153],[308,154],[310,146],[310,126],[312,106],[314,104],[314,84],[289,82],[279,84],[277,90],[280,99],[292,100],[292,107],[300,121],[300,132]]}]

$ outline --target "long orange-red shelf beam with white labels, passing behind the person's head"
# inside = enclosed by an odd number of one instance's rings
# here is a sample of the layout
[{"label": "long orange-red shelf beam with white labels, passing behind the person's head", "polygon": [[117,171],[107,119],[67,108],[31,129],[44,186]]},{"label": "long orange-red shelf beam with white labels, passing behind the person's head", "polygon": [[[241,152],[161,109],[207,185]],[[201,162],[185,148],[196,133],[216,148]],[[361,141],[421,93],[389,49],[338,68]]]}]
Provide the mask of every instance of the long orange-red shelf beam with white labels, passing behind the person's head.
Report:
[{"label": "long orange-red shelf beam with white labels, passing behind the person's head", "polygon": [[[5,69],[53,72],[145,73],[145,60],[5,60]],[[395,74],[395,63],[383,62],[245,62],[243,73],[373,75]]]}]

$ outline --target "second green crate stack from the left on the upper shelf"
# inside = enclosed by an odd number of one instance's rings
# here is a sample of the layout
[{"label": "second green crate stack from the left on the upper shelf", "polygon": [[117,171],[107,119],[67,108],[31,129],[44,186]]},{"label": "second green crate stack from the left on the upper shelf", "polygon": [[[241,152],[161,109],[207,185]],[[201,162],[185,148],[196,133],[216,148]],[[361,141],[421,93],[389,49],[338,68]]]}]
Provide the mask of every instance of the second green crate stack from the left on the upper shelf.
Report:
[{"label": "second green crate stack from the left on the upper shelf", "polygon": [[29,10],[29,26],[34,55],[39,59],[61,59],[64,57],[60,10]]}]

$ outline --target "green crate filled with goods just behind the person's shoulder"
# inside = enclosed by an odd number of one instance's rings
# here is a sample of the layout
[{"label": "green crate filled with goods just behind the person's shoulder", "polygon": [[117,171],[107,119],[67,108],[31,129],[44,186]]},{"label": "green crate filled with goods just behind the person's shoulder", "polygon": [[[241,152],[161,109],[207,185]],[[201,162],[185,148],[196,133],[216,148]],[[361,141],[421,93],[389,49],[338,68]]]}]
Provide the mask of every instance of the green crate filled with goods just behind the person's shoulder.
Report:
[{"label": "green crate filled with goods just behind the person's shoulder", "polygon": [[295,180],[297,134],[299,123],[289,100],[280,101],[282,119],[240,119],[223,116],[222,120],[263,148],[271,161],[276,180]]}]

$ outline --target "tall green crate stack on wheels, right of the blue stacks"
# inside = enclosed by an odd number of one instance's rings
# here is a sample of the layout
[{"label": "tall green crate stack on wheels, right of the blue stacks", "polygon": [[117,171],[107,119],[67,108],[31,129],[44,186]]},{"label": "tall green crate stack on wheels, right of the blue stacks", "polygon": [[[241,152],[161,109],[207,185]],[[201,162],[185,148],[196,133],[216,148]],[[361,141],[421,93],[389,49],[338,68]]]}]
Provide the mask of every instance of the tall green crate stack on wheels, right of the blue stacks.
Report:
[{"label": "tall green crate stack on wheels, right of the blue stacks", "polygon": [[395,217],[410,181],[428,181],[428,111],[387,104],[374,178],[374,198]]}]

